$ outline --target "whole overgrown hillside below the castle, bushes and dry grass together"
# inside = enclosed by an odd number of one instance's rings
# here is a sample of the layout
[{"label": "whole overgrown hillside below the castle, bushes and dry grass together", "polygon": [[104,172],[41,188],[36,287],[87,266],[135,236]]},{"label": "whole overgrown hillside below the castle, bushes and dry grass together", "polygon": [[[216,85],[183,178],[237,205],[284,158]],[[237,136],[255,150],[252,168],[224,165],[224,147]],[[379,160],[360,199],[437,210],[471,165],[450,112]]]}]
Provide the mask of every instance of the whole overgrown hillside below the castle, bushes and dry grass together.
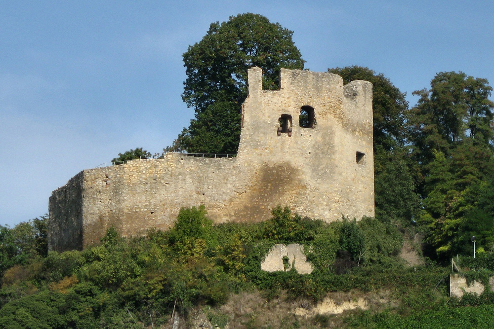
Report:
[{"label": "whole overgrown hillside below the castle, bushes and dry grass together", "polygon": [[[171,326],[173,313],[181,328],[198,314],[220,328],[492,325],[492,292],[449,298],[449,268],[427,259],[409,266],[399,257],[411,229],[374,218],[328,224],[281,207],[272,214],[263,223],[212,225],[204,207],[182,209],[169,231],[123,238],[112,228],[100,245],[64,253],[46,253],[46,219],[6,228],[2,241],[11,248],[2,243],[1,253],[12,263],[1,278],[0,328],[160,328]],[[276,243],[303,244],[314,271],[262,271]],[[492,268],[494,256],[462,261]],[[335,292],[370,308],[296,314]]]}]

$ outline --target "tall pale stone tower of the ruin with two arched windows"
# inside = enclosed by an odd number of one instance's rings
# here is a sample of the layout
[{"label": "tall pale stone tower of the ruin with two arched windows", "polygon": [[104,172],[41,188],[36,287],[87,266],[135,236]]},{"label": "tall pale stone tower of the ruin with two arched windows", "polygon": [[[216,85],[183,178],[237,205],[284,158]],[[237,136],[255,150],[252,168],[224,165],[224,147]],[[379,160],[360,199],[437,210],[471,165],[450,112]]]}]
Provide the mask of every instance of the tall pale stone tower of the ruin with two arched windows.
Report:
[{"label": "tall pale stone tower of the ruin with two arched windows", "polygon": [[[374,216],[372,85],[332,73],[281,70],[279,91],[261,90],[262,72],[249,70],[239,162],[290,168],[285,204],[303,216],[328,221]],[[299,125],[300,109],[314,109],[316,125]],[[276,131],[282,114],[291,136]],[[365,154],[357,163],[357,152]]]}]

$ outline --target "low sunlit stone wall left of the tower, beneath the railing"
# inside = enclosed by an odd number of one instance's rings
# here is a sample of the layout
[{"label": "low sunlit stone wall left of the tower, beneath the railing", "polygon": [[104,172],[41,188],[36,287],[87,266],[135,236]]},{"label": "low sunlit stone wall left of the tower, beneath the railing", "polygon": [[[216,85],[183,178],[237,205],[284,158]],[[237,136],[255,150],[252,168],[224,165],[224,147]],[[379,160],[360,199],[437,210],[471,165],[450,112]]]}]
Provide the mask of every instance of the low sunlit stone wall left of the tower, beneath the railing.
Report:
[{"label": "low sunlit stone wall left of the tower, beneath the railing", "polygon": [[97,243],[110,226],[125,236],[167,229],[182,207],[204,204],[218,219],[215,210],[230,202],[235,186],[246,183],[245,176],[234,175],[235,161],[170,153],[84,171],[84,247]]}]

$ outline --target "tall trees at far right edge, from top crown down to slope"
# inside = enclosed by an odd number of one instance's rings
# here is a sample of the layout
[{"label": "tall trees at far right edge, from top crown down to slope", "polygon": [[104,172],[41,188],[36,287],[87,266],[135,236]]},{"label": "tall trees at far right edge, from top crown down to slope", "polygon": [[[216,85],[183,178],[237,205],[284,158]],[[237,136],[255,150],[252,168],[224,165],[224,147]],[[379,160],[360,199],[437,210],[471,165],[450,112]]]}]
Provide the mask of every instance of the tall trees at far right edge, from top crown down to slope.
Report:
[{"label": "tall trees at far right edge, from top crown down to slope", "polygon": [[[441,72],[408,113],[413,156],[424,177],[423,213],[429,256],[447,257],[492,244],[494,103],[486,79]],[[479,193],[479,191],[483,191]],[[492,199],[491,199],[492,200]]]}]

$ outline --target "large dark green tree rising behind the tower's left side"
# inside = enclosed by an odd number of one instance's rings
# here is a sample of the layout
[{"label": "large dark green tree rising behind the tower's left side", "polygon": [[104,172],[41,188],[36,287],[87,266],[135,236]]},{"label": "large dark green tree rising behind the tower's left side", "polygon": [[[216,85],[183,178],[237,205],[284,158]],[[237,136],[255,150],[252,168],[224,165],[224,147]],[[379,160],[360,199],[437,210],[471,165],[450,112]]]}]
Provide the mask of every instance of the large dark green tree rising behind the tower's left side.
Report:
[{"label": "large dark green tree rising behind the tower's left side", "polygon": [[166,150],[235,153],[241,106],[247,97],[247,69],[263,70],[263,88],[278,88],[280,68],[303,69],[292,32],[266,17],[246,13],[212,23],[183,54],[187,79],[182,98],[195,118]]}]

